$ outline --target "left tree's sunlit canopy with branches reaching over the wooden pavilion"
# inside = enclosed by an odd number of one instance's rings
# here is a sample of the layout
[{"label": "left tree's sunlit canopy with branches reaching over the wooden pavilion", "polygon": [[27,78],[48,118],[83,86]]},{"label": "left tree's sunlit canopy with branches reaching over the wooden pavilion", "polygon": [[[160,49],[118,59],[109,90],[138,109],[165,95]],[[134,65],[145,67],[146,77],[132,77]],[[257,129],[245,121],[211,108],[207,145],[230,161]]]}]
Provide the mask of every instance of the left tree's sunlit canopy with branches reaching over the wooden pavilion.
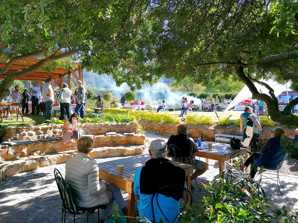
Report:
[{"label": "left tree's sunlit canopy with branches reaching over the wooden pavilion", "polygon": [[[83,67],[111,71],[129,54],[131,35],[142,24],[146,1],[106,0],[3,0],[0,2],[0,69],[6,73],[19,59],[42,60],[14,72],[0,84],[0,98],[18,77],[37,69],[55,69],[70,63],[57,60],[73,56]],[[67,59],[66,59],[67,61]]]}]

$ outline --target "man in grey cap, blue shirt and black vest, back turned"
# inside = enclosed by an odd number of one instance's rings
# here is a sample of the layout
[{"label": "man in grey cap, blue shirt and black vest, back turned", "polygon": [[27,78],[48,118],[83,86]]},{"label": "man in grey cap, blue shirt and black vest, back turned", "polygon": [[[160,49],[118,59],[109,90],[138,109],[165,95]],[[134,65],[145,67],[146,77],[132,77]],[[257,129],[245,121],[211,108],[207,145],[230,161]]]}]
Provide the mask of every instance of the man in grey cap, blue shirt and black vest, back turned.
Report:
[{"label": "man in grey cap, blue shirt and black vest, back turned", "polygon": [[149,154],[151,159],[144,167],[137,169],[133,181],[133,192],[138,202],[139,216],[143,219],[146,217],[151,222],[159,222],[160,219],[164,222],[175,222],[180,212],[179,199],[183,196],[183,189],[169,188],[165,193],[165,191],[160,191],[160,188],[169,185],[186,187],[185,171],[165,159],[168,149],[163,139],[151,142]]}]

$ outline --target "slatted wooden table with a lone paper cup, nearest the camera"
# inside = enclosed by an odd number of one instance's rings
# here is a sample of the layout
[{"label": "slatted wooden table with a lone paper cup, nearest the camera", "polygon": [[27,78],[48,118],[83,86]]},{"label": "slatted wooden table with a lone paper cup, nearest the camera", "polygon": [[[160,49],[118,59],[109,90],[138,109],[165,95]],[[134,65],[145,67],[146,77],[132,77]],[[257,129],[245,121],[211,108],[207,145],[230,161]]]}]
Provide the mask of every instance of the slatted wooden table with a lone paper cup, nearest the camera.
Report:
[{"label": "slatted wooden table with a lone paper cup, nearest the camera", "polygon": [[[136,155],[131,157],[125,157],[118,160],[111,160],[103,163],[99,163],[99,177],[110,184],[119,187],[126,191],[128,195],[128,216],[135,215],[135,197],[133,193],[133,179],[136,170],[142,166],[145,166],[147,160],[150,159],[149,154]],[[185,170],[187,189],[191,190],[191,178],[193,173],[193,166],[188,164],[179,163],[170,160],[175,166],[179,166]],[[117,165],[124,165],[123,174],[118,174]],[[190,204],[190,198],[187,200],[187,204]],[[129,218],[129,223],[134,222],[134,218]]]}]

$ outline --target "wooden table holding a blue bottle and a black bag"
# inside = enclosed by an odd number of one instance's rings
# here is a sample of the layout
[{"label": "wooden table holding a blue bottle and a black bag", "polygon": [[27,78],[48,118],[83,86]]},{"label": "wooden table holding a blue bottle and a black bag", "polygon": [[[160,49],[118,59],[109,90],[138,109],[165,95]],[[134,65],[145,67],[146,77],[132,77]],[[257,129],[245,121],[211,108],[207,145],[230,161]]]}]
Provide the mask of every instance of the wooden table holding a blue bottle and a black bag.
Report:
[{"label": "wooden table holding a blue bottle and a black bag", "polygon": [[[212,148],[208,148],[208,144],[212,143]],[[230,146],[226,143],[219,142],[201,142],[201,149],[196,153],[196,156],[200,156],[206,159],[206,163],[209,164],[209,159],[217,160],[219,165],[219,177],[221,173],[224,171],[224,162],[230,160],[231,155],[237,150],[228,149]],[[243,150],[250,152],[251,147],[243,148]],[[246,170],[248,171],[248,169]]]}]

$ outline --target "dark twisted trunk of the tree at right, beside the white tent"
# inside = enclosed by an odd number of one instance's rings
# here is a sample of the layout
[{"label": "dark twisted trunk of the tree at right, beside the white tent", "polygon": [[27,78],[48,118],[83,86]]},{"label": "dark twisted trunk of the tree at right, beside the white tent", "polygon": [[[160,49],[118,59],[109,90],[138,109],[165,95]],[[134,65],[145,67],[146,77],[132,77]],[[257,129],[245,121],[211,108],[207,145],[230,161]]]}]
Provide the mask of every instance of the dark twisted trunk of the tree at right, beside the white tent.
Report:
[{"label": "dark twisted trunk of the tree at right, beside the white tent", "polygon": [[279,111],[276,98],[272,98],[267,94],[261,94],[256,89],[254,83],[248,77],[246,77],[245,73],[243,72],[242,66],[237,67],[236,74],[247,85],[254,99],[258,99],[266,103],[268,114],[273,121],[288,126],[293,126],[298,123],[298,116],[292,115],[290,109],[287,108],[288,106],[286,107],[287,109],[285,108],[285,111]]}]

